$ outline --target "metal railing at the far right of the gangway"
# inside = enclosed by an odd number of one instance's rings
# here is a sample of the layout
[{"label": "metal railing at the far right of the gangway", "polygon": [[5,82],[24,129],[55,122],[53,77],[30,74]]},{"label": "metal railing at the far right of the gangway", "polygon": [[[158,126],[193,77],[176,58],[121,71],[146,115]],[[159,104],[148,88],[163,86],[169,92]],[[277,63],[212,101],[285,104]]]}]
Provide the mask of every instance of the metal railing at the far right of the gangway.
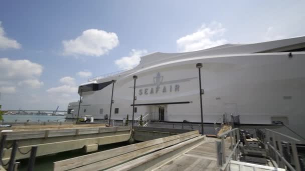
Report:
[{"label": "metal railing at the far right of the gangway", "polygon": [[[282,140],[285,139],[285,140]],[[285,166],[291,171],[300,171],[301,166],[297,154],[296,144],[300,140],[294,137],[276,132],[274,130],[265,129],[265,143],[269,155],[276,161],[280,168]],[[286,146],[285,148],[283,146]],[[285,157],[285,154],[286,155]],[[290,158],[292,156],[292,158]],[[289,163],[293,163],[294,167]]]}]

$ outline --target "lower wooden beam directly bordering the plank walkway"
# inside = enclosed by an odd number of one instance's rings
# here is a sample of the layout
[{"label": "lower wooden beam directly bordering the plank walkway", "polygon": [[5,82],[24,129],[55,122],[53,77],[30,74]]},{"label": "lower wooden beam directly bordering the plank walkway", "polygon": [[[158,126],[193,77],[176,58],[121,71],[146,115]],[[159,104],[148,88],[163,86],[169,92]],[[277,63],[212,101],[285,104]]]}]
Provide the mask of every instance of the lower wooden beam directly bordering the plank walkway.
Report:
[{"label": "lower wooden beam directly bordering the plank walkway", "polygon": [[199,135],[195,138],[186,140],[176,145],[167,147],[165,149],[150,153],[148,155],[136,158],[129,162],[117,165],[115,167],[106,169],[107,171],[114,170],[154,170],[154,168],[172,160],[173,158],[185,153],[204,142],[205,136]]}]

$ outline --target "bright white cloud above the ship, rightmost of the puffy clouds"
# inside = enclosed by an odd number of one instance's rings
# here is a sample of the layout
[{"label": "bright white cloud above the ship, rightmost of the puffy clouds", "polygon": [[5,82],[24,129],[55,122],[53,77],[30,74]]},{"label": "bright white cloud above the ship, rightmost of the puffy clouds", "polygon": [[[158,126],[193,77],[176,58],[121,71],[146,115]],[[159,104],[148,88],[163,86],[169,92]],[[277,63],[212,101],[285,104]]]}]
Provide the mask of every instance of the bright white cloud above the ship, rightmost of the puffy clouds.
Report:
[{"label": "bright white cloud above the ship, rightmost of the puffy clouds", "polygon": [[195,51],[225,44],[226,39],[218,38],[225,30],[219,22],[203,24],[196,32],[180,37],[176,41],[178,51]]}]

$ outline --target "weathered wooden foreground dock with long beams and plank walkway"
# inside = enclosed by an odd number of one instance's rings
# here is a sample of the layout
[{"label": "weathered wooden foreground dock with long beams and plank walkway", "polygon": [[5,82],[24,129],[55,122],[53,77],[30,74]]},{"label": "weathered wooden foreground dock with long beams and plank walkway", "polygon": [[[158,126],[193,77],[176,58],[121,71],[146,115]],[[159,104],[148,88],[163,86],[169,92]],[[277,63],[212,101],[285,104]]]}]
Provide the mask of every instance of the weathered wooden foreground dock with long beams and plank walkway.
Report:
[{"label": "weathered wooden foreground dock with long beams and plank walkway", "polygon": [[[144,129],[153,129],[143,128]],[[159,130],[159,129],[158,129]],[[233,130],[233,129],[232,129]],[[167,130],[168,131],[168,130]],[[157,133],[160,133],[157,131]],[[225,139],[206,137],[198,130],[147,140],[75,158],[54,162],[54,170],[107,170],[107,171],[150,171],[150,170],[284,170],[281,168],[233,160],[236,144],[232,136]],[[234,137],[234,136],[233,136]],[[218,142],[220,141],[220,142]],[[225,155],[217,156],[217,143],[224,143]],[[232,149],[232,147],[234,147]],[[221,152],[221,153],[222,153]],[[219,165],[220,158],[227,161]]]}]

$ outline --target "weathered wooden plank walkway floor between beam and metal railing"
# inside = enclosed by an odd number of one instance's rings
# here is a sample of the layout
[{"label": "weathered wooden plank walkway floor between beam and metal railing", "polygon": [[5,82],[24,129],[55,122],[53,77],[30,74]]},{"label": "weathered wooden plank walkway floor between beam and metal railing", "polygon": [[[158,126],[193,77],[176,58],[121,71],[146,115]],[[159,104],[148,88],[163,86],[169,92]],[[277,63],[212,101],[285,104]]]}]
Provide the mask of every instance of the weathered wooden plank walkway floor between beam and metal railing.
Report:
[{"label": "weathered wooden plank walkway floor between beam and metal railing", "polygon": [[[193,147],[189,151],[180,156],[162,164],[154,170],[219,170],[217,167],[216,144],[215,141],[220,139],[206,137],[199,145]],[[225,140],[226,154],[230,153],[230,142]]]}]

